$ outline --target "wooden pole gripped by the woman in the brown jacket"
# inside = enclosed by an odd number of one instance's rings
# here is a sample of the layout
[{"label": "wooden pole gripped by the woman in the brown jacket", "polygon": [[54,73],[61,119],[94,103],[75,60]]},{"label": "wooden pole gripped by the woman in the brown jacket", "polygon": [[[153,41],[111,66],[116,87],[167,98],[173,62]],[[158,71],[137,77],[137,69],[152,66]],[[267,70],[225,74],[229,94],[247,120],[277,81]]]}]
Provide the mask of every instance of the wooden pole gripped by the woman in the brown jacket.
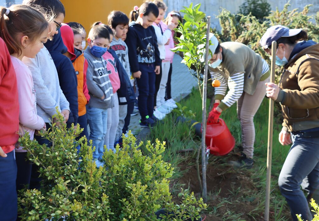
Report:
[{"label": "wooden pole gripped by the woman in the brown jacket", "polygon": [[[271,70],[270,82],[275,80],[275,65],[276,65],[276,48],[277,42],[271,43]],[[269,220],[269,202],[270,202],[270,181],[271,181],[271,152],[272,152],[272,133],[273,133],[273,118],[274,118],[274,100],[269,99],[269,119],[268,119],[268,145],[267,145],[267,177],[266,177],[266,201],[265,201],[265,220]]]}]

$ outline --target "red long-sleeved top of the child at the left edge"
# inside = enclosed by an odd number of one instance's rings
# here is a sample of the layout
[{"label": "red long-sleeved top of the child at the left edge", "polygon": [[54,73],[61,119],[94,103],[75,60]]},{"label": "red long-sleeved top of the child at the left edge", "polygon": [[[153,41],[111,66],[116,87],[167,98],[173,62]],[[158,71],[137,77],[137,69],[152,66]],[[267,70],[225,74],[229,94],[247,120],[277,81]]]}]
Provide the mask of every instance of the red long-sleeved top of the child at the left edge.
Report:
[{"label": "red long-sleeved top of the child at the left edge", "polygon": [[19,101],[16,73],[2,38],[0,62],[0,146],[4,153],[9,153],[19,138]]}]

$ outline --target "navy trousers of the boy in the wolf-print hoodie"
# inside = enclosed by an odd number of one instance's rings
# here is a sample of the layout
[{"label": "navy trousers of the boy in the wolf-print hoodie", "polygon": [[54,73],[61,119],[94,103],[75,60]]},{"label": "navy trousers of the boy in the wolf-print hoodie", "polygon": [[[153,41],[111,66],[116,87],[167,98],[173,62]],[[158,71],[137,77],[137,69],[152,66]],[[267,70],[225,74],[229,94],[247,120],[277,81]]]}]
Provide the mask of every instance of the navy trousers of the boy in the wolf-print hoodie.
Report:
[{"label": "navy trousers of the boy in the wolf-print hoodie", "polygon": [[155,65],[139,63],[141,78],[136,78],[138,86],[138,110],[142,119],[153,116],[155,93]]}]

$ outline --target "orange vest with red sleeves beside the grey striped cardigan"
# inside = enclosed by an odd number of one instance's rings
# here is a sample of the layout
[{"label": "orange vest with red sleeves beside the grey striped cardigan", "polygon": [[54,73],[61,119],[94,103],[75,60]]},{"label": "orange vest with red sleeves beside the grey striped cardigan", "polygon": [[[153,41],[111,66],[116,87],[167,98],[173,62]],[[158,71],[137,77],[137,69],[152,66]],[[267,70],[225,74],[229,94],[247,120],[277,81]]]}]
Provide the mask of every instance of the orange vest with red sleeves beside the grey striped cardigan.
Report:
[{"label": "orange vest with red sleeves beside the grey striped cardigan", "polygon": [[75,73],[77,74],[78,78],[78,115],[82,116],[86,114],[85,105],[87,104],[87,100],[83,93],[83,71],[84,71],[84,55],[81,54],[74,62],[73,67],[75,69]]}]

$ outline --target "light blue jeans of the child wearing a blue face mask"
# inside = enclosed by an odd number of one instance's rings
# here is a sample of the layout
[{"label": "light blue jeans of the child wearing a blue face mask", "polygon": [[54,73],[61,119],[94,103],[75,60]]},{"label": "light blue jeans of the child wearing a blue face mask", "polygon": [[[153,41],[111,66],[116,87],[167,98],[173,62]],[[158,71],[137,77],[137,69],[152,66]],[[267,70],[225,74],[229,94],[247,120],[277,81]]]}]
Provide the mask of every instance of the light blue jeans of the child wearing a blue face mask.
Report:
[{"label": "light blue jeans of the child wearing a blue face mask", "polygon": [[108,109],[86,106],[87,121],[90,126],[89,139],[95,146],[93,160],[101,159],[104,153],[104,137],[108,127]]}]

